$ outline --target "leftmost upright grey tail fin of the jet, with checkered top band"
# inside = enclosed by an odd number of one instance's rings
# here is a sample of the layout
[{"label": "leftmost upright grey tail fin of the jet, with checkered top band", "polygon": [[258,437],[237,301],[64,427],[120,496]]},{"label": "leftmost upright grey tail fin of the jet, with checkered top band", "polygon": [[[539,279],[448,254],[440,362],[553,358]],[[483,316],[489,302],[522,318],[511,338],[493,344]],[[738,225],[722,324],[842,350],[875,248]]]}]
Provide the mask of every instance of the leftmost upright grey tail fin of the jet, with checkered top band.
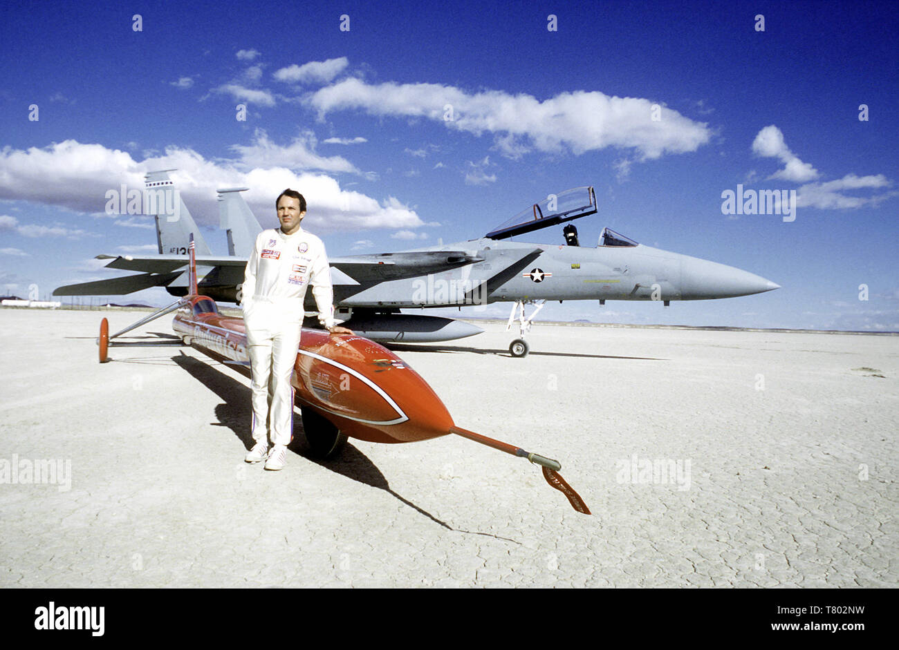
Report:
[{"label": "leftmost upright grey tail fin of the jet, with checkered top band", "polygon": [[191,233],[199,255],[211,255],[191,211],[184,205],[181,192],[174,187],[168,172],[149,171],[144,177],[147,210],[156,216],[156,244],[160,255],[186,255]]}]

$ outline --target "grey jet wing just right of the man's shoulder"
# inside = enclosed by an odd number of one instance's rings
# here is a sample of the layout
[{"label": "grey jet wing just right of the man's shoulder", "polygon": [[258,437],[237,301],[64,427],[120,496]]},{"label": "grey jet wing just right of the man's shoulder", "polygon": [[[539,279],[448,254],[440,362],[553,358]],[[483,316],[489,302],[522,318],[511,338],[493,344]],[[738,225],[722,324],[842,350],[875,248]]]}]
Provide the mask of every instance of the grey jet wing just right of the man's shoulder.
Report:
[{"label": "grey jet wing just right of the man's shoulder", "polygon": [[332,268],[360,284],[425,276],[481,261],[484,258],[464,250],[414,250],[328,258]]}]

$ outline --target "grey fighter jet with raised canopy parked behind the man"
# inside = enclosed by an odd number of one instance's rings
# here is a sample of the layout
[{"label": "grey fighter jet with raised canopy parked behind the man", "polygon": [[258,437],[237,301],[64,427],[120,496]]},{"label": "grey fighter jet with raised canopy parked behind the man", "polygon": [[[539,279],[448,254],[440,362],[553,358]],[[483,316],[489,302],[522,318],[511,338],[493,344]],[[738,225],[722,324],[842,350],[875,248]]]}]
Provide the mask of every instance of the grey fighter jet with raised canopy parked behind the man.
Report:
[{"label": "grey fighter jet with raised canopy parked behind the man", "polygon": [[[231,254],[215,258],[200,253],[197,257],[198,265],[206,271],[200,287],[204,294],[219,301],[239,300],[245,255],[252,249],[256,233],[262,230],[240,196],[243,190],[218,191],[221,226],[228,232]],[[609,228],[603,230],[595,247],[580,246],[577,230],[568,222],[596,212],[595,193],[591,186],[583,186],[550,194],[475,240],[393,253],[332,257],[329,262],[337,314],[346,321],[346,327],[366,338],[380,342],[434,342],[483,330],[463,321],[400,310],[509,302],[513,304],[507,330],[514,321],[519,322],[519,338],[512,341],[509,350],[512,356],[527,356],[525,333],[547,300],[596,300],[600,304],[607,300],[637,300],[668,305],[672,300],[731,298],[779,288],[748,271],[655,249]],[[170,218],[162,215],[156,216],[156,223],[162,230],[173,227]],[[174,223],[181,231],[177,235],[169,233],[167,240],[175,237],[186,242],[186,231],[196,232],[186,207],[182,206],[181,218]],[[565,224],[564,244],[510,239],[559,224]],[[181,244],[164,244],[163,239],[160,235],[161,255],[118,257],[107,265],[143,270],[144,275],[68,285],[59,287],[54,294],[117,293],[111,289],[130,293],[165,285],[170,294],[184,295],[187,281],[183,275],[183,253],[178,254]],[[208,247],[204,252],[207,250]],[[129,289],[129,280],[134,288]],[[314,311],[311,298],[307,299],[307,307]],[[535,305],[527,316],[526,304]]]}]

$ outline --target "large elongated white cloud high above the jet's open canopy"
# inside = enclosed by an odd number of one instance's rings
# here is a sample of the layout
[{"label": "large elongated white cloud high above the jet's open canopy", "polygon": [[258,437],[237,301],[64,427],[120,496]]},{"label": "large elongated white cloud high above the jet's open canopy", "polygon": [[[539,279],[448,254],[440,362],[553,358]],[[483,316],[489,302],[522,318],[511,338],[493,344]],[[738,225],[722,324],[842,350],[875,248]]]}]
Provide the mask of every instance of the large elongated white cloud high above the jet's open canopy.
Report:
[{"label": "large elongated white cloud high above the jet's open canopy", "polygon": [[426,118],[476,135],[491,133],[510,157],[534,149],[574,154],[609,146],[634,148],[639,159],[695,151],[708,142],[705,123],[666,109],[652,120],[653,101],[610,97],[602,92],[561,92],[539,101],[532,95],[502,91],[469,93],[439,83],[369,84],[344,79],[305,101],[320,116],[336,110],[365,110],[373,116]]}]

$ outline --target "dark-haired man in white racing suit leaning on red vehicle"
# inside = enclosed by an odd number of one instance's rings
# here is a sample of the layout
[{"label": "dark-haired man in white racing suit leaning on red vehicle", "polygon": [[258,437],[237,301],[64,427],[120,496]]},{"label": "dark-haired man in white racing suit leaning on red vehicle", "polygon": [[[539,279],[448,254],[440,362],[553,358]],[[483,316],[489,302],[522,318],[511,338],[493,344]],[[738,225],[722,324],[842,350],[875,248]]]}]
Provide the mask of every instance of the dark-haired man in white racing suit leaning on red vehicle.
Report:
[{"label": "dark-haired man in white racing suit leaning on red vehicle", "polygon": [[[253,449],[245,461],[265,461],[266,470],[287,462],[293,437],[293,387],[303,324],[303,299],[312,285],[318,321],[332,334],[352,334],[334,321],[334,291],[325,244],[300,228],[306,199],[285,189],[275,201],[280,229],[256,237],[246,263],[241,306],[253,373]],[[271,450],[269,437],[271,436]]]}]

